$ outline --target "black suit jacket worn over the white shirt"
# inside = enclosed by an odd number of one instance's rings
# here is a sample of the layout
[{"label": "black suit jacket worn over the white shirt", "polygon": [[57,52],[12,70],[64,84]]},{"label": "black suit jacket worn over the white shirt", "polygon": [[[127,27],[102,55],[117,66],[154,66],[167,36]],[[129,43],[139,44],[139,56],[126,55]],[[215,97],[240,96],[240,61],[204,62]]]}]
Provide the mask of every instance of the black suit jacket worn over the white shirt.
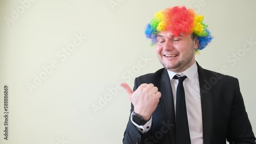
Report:
[{"label": "black suit jacket worn over the white shirt", "polygon": [[[237,78],[203,69],[198,65],[204,144],[255,143]],[[152,114],[151,130],[141,134],[131,122],[124,132],[123,143],[176,143],[175,117],[171,116],[173,92],[165,68],[135,79],[134,91],[142,83],[153,83],[161,98]],[[134,107],[131,107],[131,113]],[[184,143],[185,144],[185,143]]]}]

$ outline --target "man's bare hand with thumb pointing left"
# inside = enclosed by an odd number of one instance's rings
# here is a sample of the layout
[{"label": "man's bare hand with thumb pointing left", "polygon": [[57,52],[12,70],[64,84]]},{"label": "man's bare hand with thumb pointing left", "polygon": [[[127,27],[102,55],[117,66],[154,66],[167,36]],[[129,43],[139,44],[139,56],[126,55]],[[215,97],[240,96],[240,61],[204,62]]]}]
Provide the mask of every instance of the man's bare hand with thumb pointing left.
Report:
[{"label": "man's bare hand with thumb pointing left", "polygon": [[121,83],[120,86],[126,90],[129,100],[134,105],[134,112],[148,121],[161,98],[161,92],[158,91],[158,88],[152,83],[141,84],[135,91],[126,83]]}]

